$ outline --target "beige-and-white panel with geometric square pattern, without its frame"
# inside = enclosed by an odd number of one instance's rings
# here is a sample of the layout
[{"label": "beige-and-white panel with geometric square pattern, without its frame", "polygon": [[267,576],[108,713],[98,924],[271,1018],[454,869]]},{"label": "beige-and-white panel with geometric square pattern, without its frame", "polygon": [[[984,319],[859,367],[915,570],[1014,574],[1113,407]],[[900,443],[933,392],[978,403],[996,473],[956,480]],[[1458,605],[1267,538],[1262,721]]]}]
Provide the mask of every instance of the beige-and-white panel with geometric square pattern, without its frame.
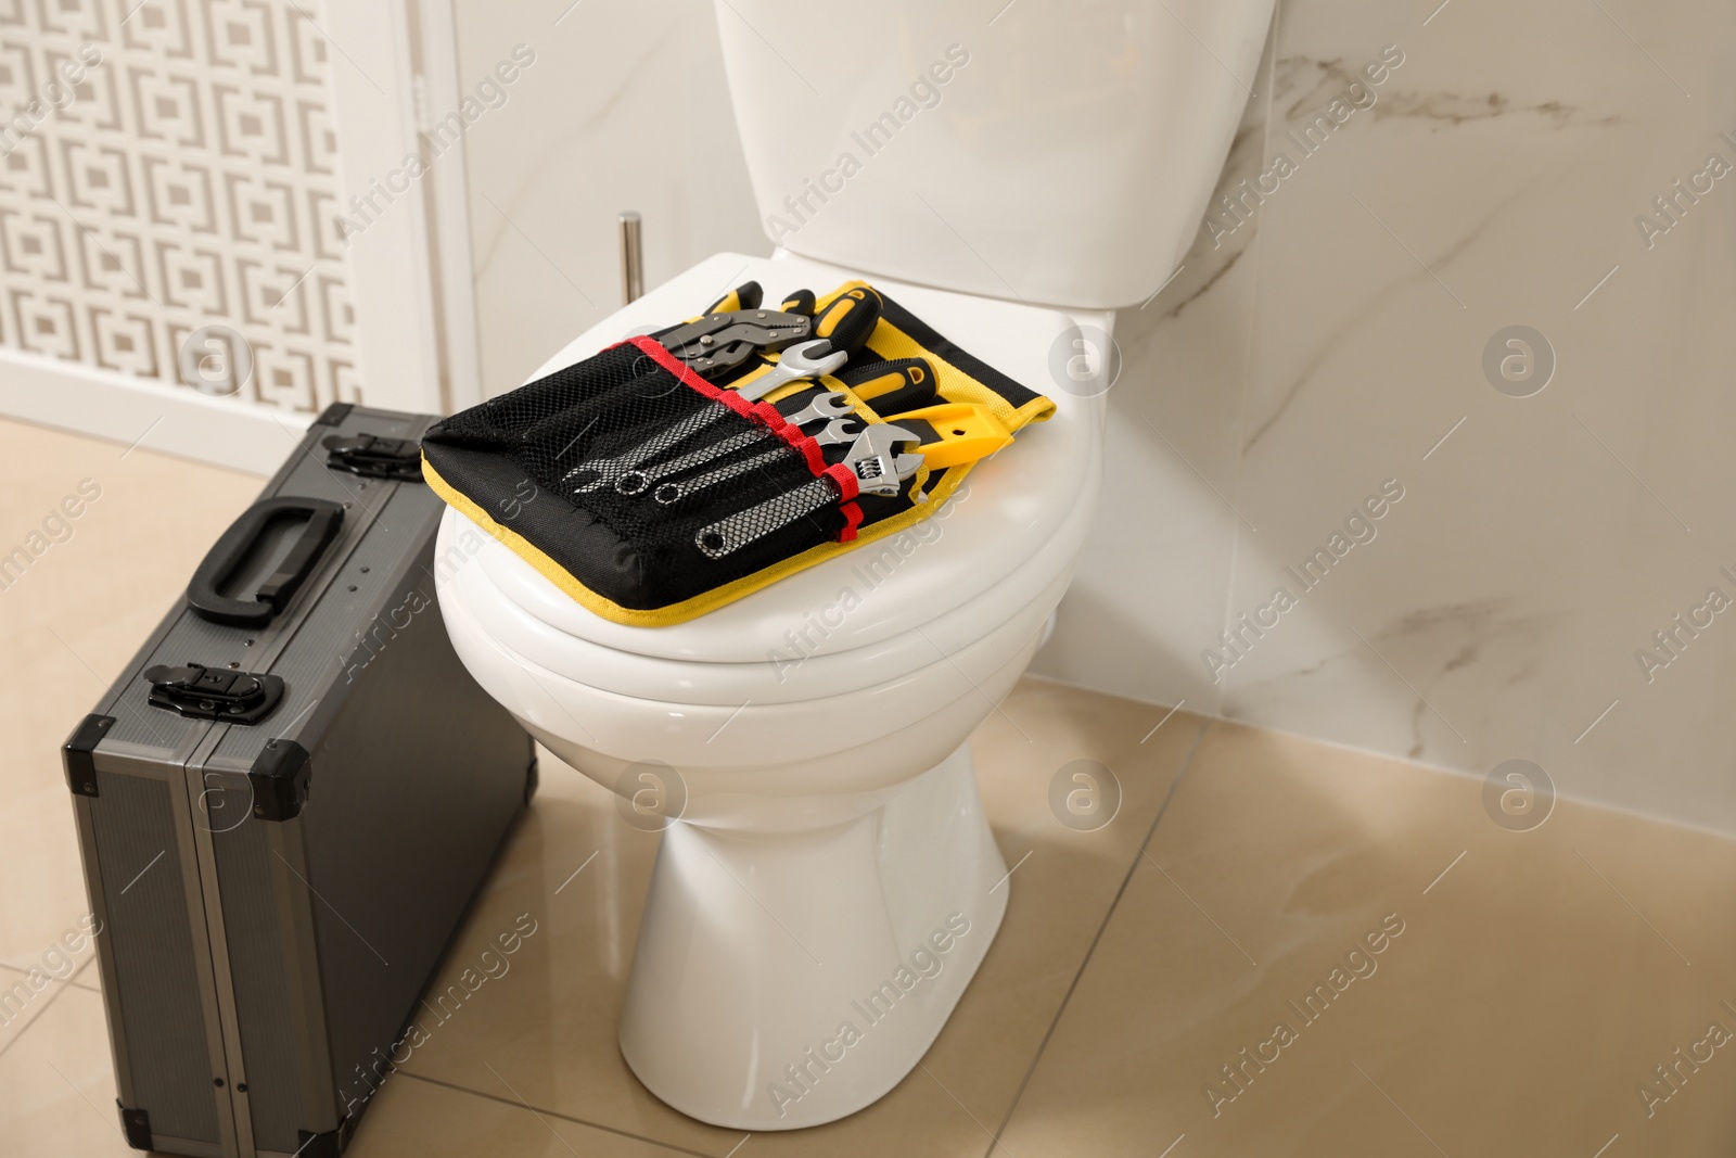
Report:
[{"label": "beige-and-white panel with geometric square pattern, without its frame", "polygon": [[0,0],[0,344],[293,410],[359,398],[319,12]]}]

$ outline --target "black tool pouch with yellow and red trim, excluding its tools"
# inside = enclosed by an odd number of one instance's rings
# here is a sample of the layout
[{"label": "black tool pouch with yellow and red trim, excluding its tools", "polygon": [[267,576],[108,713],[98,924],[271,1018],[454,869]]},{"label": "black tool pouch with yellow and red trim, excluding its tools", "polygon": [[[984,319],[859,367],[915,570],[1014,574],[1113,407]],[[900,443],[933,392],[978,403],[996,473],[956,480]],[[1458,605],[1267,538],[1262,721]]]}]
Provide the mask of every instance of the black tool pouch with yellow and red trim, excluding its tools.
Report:
[{"label": "black tool pouch with yellow and red trim, excluding its tools", "polygon": [[[654,337],[630,339],[431,427],[424,477],[587,609],[634,627],[691,620],[910,526],[969,469],[922,469],[896,495],[863,493],[842,462],[847,444],[821,448],[816,425],[804,432],[785,420],[823,391],[844,394],[865,424],[889,415],[849,380],[868,394],[904,387],[885,394],[889,405],[995,399],[1009,431],[1052,410],[906,311],[885,313],[903,325],[882,316],[837,377],[799,380],[764,401],[729,387],[759,377],[776,354],[713,375],[727,384],[719,385]],[[934,359],[934,385],[911,384],[920,370],[885,373],[915,351]],[[941,486],[925,491],[930,477]]]}]

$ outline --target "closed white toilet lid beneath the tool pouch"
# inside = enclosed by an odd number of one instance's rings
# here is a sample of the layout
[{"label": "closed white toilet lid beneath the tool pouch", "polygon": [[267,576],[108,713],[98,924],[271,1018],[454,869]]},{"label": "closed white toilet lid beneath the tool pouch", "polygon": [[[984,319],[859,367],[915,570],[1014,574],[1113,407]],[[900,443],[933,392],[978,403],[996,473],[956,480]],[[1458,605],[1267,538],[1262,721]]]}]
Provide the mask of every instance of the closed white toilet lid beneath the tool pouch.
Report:
[{"label": "closed white toilet lid beneath the tool pouch", "polygon": [[[759,281],[766,300],[776,302],[797,288],[823,293],[856,276],[788,253],[719,253],[576,337],[531,380],[623,337],[691,316],[743,281]],[[922,625],[991,592],[1033,557],[1071,547],[1052,540],[1082,535],[1083,528],[1076,526],[1082,519],[1073,516],[1088,516],[1094,505],[1104,399],[1101,394],[1061,389],[1059,375],[1050,366],[1066,366],[1078,325],[1106,330],[1108,318],[1090,314],[1075,319],[1038,306],[885,278],[871,281],[963,349],[1052,398],[1054,415],[1024,427],[1014,446],[977,464],[953,500],[930,519],[686,623],[627,627],[604,620],[509,550],[486,550],[481,559],[491,587],[542,625],[601,648],[689,663],[766,663],[773,653],[790,653],[792,635],[800,639],[806,656],[887,646],[904,635],[920,635]],[[1045,547],[1050,550],[1045,552]],[[1071,564],[1073,552],[1066,554],[1068,559],[1057,563],[1057,573]],[[1009,615],[1012,611],[1007,609]],[[934,653],[927,651],[927,661],[932,661]]]}]

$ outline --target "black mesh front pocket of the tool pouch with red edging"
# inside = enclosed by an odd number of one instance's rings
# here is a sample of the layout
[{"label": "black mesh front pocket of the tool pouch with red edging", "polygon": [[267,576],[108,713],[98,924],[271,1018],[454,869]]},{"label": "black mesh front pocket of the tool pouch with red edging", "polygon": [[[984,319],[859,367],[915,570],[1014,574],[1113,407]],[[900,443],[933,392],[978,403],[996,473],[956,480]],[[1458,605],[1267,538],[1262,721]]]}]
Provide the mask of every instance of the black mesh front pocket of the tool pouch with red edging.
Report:
[{"label": "black mesh front pocket of the tool pouch with red edging", "polygon": [[854,536],[854,476],[648,337],[457,413],[424,474],[583,606],[674,623]]}]

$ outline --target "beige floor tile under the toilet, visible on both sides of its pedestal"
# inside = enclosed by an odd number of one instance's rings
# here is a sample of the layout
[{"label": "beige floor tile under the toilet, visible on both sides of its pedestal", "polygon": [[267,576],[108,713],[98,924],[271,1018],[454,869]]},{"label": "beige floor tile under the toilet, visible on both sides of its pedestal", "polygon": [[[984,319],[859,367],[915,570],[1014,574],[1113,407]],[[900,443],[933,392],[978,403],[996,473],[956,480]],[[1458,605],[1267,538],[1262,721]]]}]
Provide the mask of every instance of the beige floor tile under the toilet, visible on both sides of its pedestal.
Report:
[{"label": "beige floor tile under the toilet, visible on both sides of its pedestal", "polygon": [[[1179,714],[1153,733],[1163,717],[1163,708],[1038,681],[1019,686],[972,741],[1007,863],[1024,859],[1007,885],[1009,913],[995,948],[925,1069],[845,1122],[755,1135],[755,1153],[986,1149],[1201,727],[1198,717]],[[1120,814],[1099,832],[1062,826],[1049,806],[1057,769],[1082,759],[1113,767],[1125,795]],[[510,1083],[538,1109],[726,1155],[741,1135],[658,1102],[615,1043],[656,837],[625,825],[602,788],[552,759],[547,769],[535,814],[507,849],[437,986],[519,913],[531,913],[540,931],[512,972],[432,1028],[406,1069],[486,1094]],[[587,868],[569,880],[580,865]]]}]

